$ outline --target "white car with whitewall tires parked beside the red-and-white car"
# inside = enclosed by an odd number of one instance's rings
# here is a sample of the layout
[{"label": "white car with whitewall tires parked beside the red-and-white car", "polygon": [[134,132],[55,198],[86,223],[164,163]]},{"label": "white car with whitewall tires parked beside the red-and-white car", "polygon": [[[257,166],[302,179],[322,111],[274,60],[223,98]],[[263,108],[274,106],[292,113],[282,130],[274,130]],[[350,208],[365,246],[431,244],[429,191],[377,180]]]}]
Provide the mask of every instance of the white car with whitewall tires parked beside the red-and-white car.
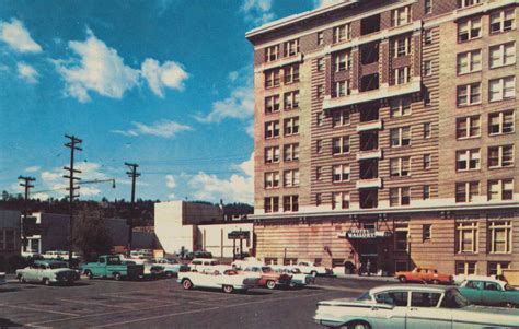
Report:
[{"label": "white car with whitewall tires parked beside the red-and-white car", "polygon": [[246,291],[257,286],[261,275],[257,273],[243,273],[230,267],[217,266],[199,272],[182,272],[177,282],[185,290],[193,287],[220,289],[230,294],[235,290]]}]

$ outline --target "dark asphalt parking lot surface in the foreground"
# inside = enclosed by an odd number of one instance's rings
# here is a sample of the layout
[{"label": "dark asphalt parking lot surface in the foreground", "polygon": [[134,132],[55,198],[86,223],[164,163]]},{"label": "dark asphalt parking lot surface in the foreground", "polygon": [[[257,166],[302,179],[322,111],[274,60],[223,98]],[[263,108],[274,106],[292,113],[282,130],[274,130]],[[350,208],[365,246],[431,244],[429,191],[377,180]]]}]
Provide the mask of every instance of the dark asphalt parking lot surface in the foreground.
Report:
[{"label": "dark asphalt parking lot surface in the foreground", "polygon": [[247,293],[184,291],[174,279],[83,279],[74,286],[0,286],[0,327],[319,328],[319,301],[353,297],[380,285],[368,280],[318,278],[313,287]]}]

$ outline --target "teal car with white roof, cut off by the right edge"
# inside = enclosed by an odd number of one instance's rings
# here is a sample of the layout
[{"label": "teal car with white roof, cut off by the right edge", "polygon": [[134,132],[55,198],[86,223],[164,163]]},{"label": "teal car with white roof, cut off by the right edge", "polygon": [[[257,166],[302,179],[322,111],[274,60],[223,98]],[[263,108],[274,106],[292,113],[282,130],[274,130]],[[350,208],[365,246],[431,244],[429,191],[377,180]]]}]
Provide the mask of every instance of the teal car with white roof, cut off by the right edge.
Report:
[{"label": "teal car with white roof, cut off by the right edge", "polygon": [[473,277],[461,283],[460,292],[473,304],[519,307],[519,291],[506,281]]}]

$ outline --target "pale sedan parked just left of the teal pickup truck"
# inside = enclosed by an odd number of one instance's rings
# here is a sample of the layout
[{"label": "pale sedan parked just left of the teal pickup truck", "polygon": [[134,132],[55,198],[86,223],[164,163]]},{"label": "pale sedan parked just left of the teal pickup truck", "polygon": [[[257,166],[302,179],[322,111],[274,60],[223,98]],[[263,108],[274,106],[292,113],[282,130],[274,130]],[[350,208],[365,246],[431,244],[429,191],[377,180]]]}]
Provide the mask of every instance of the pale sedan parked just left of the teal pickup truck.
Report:
[{"label": "pale sedan parked just left of the teal pickup truck", "polygon": [[57,260],[36,260],[31,266],[16,270],[16,279],[21,283],[41,282],[73,284],[80,279],[78,271],[69,269],[68,263]]}]

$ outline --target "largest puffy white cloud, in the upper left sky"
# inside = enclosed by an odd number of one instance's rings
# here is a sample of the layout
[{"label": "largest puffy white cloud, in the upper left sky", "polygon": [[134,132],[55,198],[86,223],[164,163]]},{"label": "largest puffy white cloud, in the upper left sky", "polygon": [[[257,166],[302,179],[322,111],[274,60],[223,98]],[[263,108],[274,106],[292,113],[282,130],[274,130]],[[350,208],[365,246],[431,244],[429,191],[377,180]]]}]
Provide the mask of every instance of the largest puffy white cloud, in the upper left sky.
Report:
[{"label": "largest puffy white cloud, in the upper left sky", "polygon": [[140,72],[124,63],[117,50],[100,40],[88,31],[85,42],[69,42],[69,47],[79,57],[56,60],[56,67],[67,83],[66,93],[84,103],[89,92],[111,98],[122,98],[127,90],[139,83]]}]

